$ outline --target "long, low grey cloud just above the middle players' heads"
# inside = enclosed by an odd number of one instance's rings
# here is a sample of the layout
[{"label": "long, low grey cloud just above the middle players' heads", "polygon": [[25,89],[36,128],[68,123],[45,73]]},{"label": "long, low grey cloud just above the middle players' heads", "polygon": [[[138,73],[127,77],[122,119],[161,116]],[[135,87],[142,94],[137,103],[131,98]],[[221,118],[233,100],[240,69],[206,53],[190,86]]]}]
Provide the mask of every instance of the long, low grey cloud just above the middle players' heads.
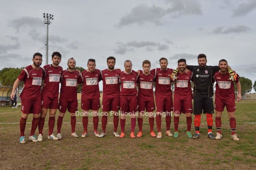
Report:
[{"label": "long, low grey cloud just above the middle players' heads", "polygon": [[117,48],[113,49],[115,51],[115,54],[124,54],[127,51],[133,51],[134,48],[143,48],[146,47],[147,51],[152,51],[154,49],[158,49],[160,51],[168,50],[169,46],[166,44],[161,44],[158,42],[150,42],[150,41],[141,41],[141,42],[118,42]]}]

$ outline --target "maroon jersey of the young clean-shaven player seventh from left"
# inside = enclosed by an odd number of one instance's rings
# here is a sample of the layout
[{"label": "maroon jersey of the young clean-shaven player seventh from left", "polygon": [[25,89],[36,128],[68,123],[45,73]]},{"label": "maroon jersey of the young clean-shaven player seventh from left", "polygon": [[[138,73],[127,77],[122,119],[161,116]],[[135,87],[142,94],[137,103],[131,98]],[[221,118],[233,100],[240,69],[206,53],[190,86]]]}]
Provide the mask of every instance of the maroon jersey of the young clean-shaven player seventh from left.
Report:
[{"label": "maroon jersey of the young clean-shaven player seventh from left", "polygon": [[155,78],[155,71],[151,70],[148,75],[145,75],[142,70],[138,76],[137,83],[139,83],[138,100],[151,101],[154,100],[153,83]]}]

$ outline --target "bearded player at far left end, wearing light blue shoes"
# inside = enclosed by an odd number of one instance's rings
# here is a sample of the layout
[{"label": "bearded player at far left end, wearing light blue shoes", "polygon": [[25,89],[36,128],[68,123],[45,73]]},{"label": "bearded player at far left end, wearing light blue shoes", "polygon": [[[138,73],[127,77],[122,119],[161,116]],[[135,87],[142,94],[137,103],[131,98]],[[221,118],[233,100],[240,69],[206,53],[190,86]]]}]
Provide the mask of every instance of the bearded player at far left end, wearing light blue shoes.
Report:
[{"label": "bearded player at far left end, wearing light blue shoes", "polygon": [[41,83],[43,78],[42,54],[39,52],[33,55],[33,64],[25,67],[18,78],[15,80],[12,88],[11,99],[15,97],[15,90],[21,81],[24,81],[24,89],[20,94],[21,98],[21,118],[20,118],[20,143],[26,143],[25,128],[28,114],[33,114],[32,126],[29,140],[38,142],[34,135],[39,123],[39,114],[41,112]]}]

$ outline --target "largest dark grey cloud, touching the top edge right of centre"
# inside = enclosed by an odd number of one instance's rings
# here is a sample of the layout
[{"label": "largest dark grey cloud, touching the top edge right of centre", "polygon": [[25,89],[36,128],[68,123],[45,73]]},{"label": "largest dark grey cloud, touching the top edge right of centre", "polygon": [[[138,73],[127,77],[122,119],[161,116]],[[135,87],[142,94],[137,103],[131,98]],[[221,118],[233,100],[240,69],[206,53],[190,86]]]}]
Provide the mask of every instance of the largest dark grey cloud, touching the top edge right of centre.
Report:
[{"label": "largest dark grey cloud, touching the top edge right of centre", "polygon": [[183,15],[199,15],[202,14],[200,4],[197,1],[168,1],[170,8],[157,7],[155,5],[148,6],[140,4],[134,7],[127,15],[123,16],[117,27],[128,26],[132,24],[143,25],[144,23],[154,23],[161,25],[165,17],[179,18]]}]

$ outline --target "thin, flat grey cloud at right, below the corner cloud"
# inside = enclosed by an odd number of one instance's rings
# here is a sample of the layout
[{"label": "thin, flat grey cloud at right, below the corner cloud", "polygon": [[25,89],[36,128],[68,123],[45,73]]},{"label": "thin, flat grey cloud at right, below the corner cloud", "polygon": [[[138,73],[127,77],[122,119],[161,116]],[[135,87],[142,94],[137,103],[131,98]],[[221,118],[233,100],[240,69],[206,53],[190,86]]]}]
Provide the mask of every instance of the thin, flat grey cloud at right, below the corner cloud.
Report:
[{"label": "thin, flat grey cloud at right, below the corner cloud", "polygon": [[235,27],[228,27],[226,29],[224,29],[224,27],[218,27],[213,30],[213,33],[214,34],[243,33],[243,32],[248,32],[250,30],[252,30],[250,27],[238,25]]}]

